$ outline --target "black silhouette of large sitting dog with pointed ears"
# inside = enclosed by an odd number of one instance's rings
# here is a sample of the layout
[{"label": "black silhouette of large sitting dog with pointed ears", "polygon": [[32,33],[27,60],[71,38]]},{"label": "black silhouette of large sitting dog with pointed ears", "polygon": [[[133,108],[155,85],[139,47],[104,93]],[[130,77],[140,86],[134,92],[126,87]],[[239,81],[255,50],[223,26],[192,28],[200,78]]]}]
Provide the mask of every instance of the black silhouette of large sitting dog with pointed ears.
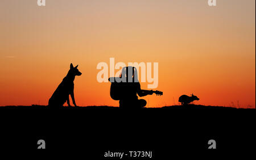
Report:
[{"label": "black silhouette of large sitting dog with pointed ears", "polygon": [[[78,65],[77,65],[78,66]],[[70,64],[70,69],[66,77],[63,78],[63,81],[57,87],[55,92],[53,92],[51,98],[49,99],[48,106],[51,107],[62,107],[65,102],[69,103],[69,95],[71,95],[74,106],[76,107],[75,97],[74,97],[74,80],[76,75],[81,75],[82,73],[73,67],[73,64]]]}]

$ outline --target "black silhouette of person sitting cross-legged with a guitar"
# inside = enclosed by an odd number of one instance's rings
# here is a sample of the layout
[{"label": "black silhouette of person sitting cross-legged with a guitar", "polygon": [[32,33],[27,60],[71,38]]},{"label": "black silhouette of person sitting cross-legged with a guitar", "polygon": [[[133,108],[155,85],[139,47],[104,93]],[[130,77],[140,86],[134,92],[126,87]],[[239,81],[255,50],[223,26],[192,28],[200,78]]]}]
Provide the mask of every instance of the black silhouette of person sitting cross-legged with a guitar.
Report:
[{"label": "black silhouette of person sitting cross-legged with a guitar", "polygon": [[[141,85],[138,81],[137,69],[132,66],[127,66],[123,68],[119,79],[122,79],[122,81],[113,82],[114,79],[112,79],[111,81],[112,85],[110,87],[110,96],[114,100],[119,100],[119,107],[142,108],[146,106],[147,104],[146,100],[138,99],[137,94],[139,96],[152,95],[153,91],[141,90]],[[110,81],[110,78],[109,78],[109,81]]]}]

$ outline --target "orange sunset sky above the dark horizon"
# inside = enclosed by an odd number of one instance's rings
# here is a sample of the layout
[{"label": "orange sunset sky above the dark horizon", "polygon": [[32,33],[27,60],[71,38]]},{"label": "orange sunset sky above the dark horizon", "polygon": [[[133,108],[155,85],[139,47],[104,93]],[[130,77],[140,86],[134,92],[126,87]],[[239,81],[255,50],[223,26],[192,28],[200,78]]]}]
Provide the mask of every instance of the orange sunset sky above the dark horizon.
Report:
[{"label": "orange sunset sky above the dark horizon", "polygon": [[97,81],[111,57],[158,62],[163,96],[143,97],[147,107],[193,93],[195,104],[255,108],[255,1],[0,1],[0,106],[47,105],[71,62],[78,106],[118,106]]}]

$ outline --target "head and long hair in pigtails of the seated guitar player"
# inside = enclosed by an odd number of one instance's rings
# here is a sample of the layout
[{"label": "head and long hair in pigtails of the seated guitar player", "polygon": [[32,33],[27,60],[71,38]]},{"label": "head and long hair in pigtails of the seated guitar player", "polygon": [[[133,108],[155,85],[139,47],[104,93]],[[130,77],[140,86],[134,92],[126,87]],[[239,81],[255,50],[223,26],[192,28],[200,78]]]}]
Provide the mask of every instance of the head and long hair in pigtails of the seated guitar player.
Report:
[{"label": "head and long hair in pigtails of the seated guitar player", "polygon": [[134,66],[124,67],[120,75],[120,78],[122,77],[126,77],[126,82],[139,82],[138,71],[137,71],[137,68],[135,68]]}]

